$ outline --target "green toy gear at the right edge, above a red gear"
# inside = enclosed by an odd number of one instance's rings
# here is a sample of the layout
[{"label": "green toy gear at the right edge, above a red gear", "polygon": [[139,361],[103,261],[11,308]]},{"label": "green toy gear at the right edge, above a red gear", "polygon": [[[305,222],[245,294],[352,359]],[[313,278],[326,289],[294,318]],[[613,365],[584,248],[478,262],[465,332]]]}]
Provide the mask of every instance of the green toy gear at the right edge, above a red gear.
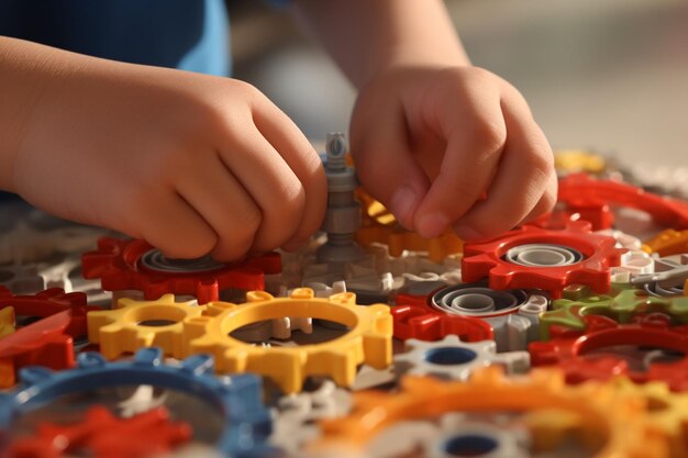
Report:
[{"label": "green toy gear at the right edge, above a red gear", "polygon": [[663,313],[675,323],[688,324],[688,298],[657,298],[642,290],[624,290],[615,297],[592,295],[579,301],[559,299],[554,301],[553,310],[540,316],[540,336],[550,338],[552,326],[584,331],[584,316],[603,315],[618,323],[631,323],[641,314]]}]

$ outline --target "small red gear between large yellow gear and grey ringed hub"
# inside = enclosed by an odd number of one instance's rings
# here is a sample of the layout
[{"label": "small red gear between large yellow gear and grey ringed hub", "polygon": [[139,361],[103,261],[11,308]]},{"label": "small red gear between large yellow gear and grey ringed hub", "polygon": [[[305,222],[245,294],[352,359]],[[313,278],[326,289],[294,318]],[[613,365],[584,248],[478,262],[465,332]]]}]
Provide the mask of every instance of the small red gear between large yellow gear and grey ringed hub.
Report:
[{"label": "small red gear between large yellow gear and grey ringed hub", "polygon": [[489,323],[469,316],[448,315],[428,305],[426,297],[399,294],[390,313],[395,337],[400,339],[439,340],[455,334],[464,342],[492,338]]}]

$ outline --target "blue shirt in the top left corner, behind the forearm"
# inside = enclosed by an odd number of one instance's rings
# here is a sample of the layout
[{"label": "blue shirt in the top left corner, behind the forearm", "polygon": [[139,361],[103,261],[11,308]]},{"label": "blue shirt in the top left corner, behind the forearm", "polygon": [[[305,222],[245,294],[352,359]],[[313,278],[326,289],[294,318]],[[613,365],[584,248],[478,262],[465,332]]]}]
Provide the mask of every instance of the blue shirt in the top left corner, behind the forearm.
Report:
[{"label": "blue shirt in the top left corner, behind the forearm", "polygon": [[133,64],[231,72],[223,0],[0,0],[0,35]]}]

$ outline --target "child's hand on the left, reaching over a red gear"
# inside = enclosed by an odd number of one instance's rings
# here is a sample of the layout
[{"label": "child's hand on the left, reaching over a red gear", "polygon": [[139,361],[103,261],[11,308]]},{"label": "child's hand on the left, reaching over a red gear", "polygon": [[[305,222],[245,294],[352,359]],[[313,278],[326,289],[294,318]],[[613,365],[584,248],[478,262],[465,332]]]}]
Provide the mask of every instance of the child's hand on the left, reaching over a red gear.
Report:
[{"label": "child's hand on the left, reaching over a red gear", "polygon": [[14,192],[62,217],[220,260],[297,247],[326,206],[321,161],[254,87],[69,55],[13,157]]}]

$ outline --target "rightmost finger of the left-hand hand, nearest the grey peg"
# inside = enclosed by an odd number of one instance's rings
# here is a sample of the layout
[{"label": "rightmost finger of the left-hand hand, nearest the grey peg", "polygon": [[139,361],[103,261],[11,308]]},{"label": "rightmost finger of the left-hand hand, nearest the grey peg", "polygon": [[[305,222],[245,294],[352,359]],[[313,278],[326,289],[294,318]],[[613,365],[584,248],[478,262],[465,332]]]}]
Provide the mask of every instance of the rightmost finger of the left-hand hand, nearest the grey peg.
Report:
[{"label": "rightmost finger of the left-hand hand, nearest the grey peg", "polygon": [[306,211],[289,241],[282,244],[296,247],[322,225],[328,206],[328,180],[320,156],[291,119],[266,98],[259,98],[256,104],[253,111],[256,127],[298,177],[306,193]]}]

